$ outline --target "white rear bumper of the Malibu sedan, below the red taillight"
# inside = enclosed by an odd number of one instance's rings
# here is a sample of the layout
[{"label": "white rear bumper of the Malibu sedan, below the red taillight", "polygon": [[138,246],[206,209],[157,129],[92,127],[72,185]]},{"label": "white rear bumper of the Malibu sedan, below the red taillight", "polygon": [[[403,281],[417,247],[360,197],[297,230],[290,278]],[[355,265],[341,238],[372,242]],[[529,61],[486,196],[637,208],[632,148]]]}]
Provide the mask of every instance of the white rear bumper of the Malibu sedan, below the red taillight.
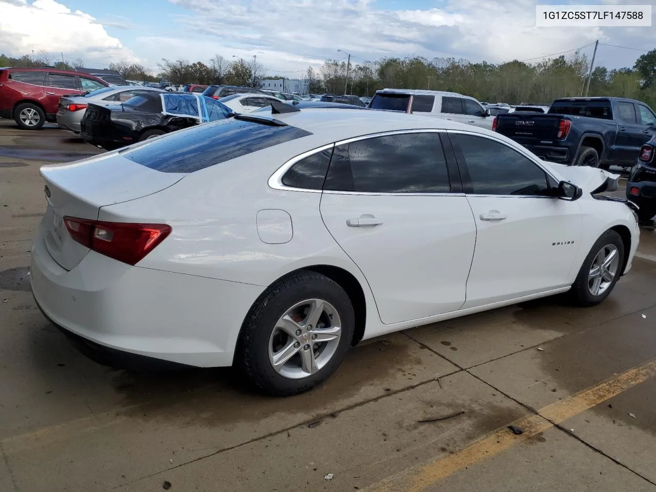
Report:
[{"label": "white rear bumper of the Malibu sedan, below the red taillight", "polygon": [[30,281],[39,308],[64,331],[128,358],[197,367],[232,365],[241,323],[264,290],[129,266],[93,251],[64,270],[48,253],[41,226]]}]

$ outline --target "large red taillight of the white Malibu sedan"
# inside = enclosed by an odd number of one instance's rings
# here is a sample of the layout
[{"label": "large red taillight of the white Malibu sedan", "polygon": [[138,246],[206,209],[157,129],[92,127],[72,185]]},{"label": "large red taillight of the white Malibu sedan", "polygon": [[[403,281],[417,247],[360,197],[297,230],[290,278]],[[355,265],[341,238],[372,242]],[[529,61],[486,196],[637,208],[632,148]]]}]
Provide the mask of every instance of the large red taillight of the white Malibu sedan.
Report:
[{"label": "large red taillight of the white Malibu sedan", "polygon": [[167,224],[129,224],[64,217],[71,237],[96,253],[127,264],[137,264],[165,237],[171,234]]}]

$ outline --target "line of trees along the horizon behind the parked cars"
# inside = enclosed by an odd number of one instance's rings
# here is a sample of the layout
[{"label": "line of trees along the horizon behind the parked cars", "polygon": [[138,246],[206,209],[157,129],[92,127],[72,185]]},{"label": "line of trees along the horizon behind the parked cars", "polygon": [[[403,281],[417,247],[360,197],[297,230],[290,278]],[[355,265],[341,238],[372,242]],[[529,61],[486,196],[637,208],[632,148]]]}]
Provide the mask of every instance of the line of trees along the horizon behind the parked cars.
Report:
[{"label": "line of trees along the horizon behind the parked cars", "polygon": [[[73,70],[83,68],[84,63],[79,59],[57,60],[41,51],[20,58],[0,55],[0,66],[54,66]],[[270,70],[255,58],[228,60],[220,54],[208,62],[163,58],[157,67],[159,72],[155,75],[152,70],[140,64],[116,62],[109,66],[110,70],[121,73],[126,79],[165,80],[176,85],[197,83],[257,87],[263,79],[283,78],[265,76]],[[550,104],[559,97],[584,94],[589,70],[588,59],[578,55],[571,58],[559,56],[536,63],[513,60],[502,64],[472,63],[455,58],[428,60],[412,56],[350,64],[348,79],[344,60],[326,60],[318,68],[308,67],[298,78],[307,80],[309,92],[312,93],[372,96],[379,89],[394,87],[460,92],[486,102]],[[588,96],[638,99],[656,108],[656,49],[640,56],[631,68],[594,68]]]}]

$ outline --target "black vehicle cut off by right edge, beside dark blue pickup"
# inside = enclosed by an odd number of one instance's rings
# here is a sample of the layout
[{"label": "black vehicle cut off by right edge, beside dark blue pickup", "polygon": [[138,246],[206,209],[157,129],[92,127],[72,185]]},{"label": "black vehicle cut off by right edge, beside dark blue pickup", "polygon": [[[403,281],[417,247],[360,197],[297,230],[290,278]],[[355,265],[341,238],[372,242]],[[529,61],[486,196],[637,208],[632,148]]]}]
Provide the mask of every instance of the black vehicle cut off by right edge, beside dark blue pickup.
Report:
[{"label": "black vehicle cut off by right edge, beside dark blue pickup", "polygon": [[643,222],[656,215],[656,135],[640,148],[638,161],[626,182],[626,197],[638,205]]}]

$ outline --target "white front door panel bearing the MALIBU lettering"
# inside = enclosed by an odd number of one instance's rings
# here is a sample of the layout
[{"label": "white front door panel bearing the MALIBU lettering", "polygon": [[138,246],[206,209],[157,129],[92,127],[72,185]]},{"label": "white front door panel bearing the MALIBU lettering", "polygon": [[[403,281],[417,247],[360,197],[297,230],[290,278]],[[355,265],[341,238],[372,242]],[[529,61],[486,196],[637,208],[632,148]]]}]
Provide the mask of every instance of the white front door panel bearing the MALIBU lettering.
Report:
[{"label": "white front door panel bearing the MALIBU lettering", "polygon": [[549,197],[467,198],[478,232],[463,309],[566,285],[583,230],[579,203]]}]

